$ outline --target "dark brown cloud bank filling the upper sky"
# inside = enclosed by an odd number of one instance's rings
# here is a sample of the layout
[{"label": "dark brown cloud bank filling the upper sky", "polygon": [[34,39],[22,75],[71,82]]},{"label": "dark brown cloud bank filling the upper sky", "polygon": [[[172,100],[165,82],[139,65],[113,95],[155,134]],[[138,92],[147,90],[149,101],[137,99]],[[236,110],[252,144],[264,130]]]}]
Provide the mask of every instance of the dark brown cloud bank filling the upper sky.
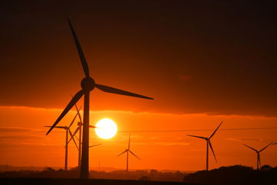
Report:
[{"label": "dark brown cloud bank filling the upper sky", "polygon": [[0,105],[64,107],[80,89],[71,17],[97,82],[155,98],[96,90],[94,110],[277,116],[270,1],[9,1],[0,12]]}]

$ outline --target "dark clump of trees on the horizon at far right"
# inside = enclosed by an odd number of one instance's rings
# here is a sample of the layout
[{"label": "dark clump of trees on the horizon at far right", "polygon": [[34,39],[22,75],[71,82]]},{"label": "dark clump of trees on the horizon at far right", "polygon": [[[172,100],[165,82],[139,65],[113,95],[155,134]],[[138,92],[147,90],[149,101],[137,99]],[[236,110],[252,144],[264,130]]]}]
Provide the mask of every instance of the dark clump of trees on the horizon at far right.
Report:
[{"label": "dark clump of trees on the horizon at far right", "polygon": [[227,166],[209,171],[198,171],[184,177],[186,183],[197,184],[277,184],[277,167],[262,166],[254,170],[248,166]]}]

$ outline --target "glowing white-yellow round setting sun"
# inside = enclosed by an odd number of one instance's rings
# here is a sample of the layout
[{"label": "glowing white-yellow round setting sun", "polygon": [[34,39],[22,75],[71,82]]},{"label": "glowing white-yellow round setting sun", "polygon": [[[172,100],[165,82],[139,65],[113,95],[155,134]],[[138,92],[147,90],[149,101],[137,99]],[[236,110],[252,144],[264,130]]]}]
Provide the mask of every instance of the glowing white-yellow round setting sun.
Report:
[{"label": "glowing white-yellow round setting sun", "polygon": [[102,139],[110,139],[116,132],[116,123],[109,118],[103,118],[96,123],[96,134]]}]

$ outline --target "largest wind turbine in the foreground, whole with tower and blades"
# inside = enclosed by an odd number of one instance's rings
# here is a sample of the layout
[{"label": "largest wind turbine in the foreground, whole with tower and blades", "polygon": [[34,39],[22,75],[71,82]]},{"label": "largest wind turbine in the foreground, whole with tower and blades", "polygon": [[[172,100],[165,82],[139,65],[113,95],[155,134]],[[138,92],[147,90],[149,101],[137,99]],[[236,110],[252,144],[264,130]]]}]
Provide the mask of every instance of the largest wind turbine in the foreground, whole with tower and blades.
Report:
[{"label": "largest wind turbine in the foreground, whole with tower and blades", "polygon": [[112,94],[121,94],[125,96],[134,96],[137,98],[146,98],[146,99],[153,99],[147,96],[142,96],[139,94],[134,94],[129,91],[123,91],[120,89],[116,89],[114,87],[108,87],[106,85],[96,84],[95,80],[89,76],[89,66],[87,64],[86,59],[84,58],[84,53],[82,52],[82,48],[80,46],[80,42],[78,41],[78,37],[75,33],[75,30],[69,21],[69,26],[71,28],[71,33],[73,35],[73,39],[75,41],[75,45],[78,49],[79,57],[82,63],[82,69],[84,71],[85,78],[81,81],[82,89],[73,96],[72,100],[69,104],[64,108],[64,111],[60,116],[57,118],[55,123],[53,123],[52,127],[46,133],[49,134],[51,130],[61,121],[61,119],[66,115],[67,112],[75,105],[75,103],[84,96],[84,123],[83,123],[83,132],[82,132],[82,161],[81,161],[81,170],[80,170],[80,178],[82,179],[89,179],[89,94],[95,87],[100,89],[101,91],[105,91]]}]

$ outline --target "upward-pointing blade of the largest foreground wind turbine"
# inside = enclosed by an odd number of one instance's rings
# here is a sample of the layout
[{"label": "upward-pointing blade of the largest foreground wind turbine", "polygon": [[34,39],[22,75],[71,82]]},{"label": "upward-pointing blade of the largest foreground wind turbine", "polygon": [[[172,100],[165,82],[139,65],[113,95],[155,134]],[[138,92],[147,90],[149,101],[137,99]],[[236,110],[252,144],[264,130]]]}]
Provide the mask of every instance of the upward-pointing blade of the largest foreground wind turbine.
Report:
[{"label": "upward-pointing blade of the largest foreground wind turbine", "polygon": [[69,19],[67,19],[69,21],[69,26],[71,28],[71,33],[73,35],[73,38],[74,38],[74,41],[75,41],[75,45],[78,49],[78,53],[79,53],[79,57],[80,57],[80,60],[82,62],[82,69],[84,70],[84,74],[85,76],[88,78],[89,77],[89,66],[87,64],[87,60],[86,58],[84,58],[84,53],[82,52],[82,48],[81,48],[81,45],[80,45],[80,42],[78,40],[78,37],[75,33],[75,30],[71,24],[71,21]]}]

